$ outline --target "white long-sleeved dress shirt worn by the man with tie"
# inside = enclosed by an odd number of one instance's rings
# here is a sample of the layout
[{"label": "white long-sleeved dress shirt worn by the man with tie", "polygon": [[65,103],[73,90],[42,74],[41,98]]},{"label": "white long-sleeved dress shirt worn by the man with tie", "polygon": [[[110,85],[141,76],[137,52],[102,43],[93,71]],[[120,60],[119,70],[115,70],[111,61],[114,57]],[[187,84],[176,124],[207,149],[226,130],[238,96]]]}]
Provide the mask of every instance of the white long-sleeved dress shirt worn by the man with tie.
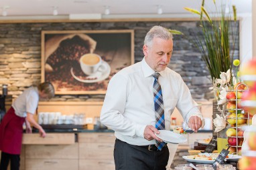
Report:
[{"label": "white long-sleeved dress shirt worn by the man with tie", "polygon": [[[109,86],[101,110],[101,123],[115,131],[115,137],[131,145],[151,145],[155,140],[144,139],[147,125],[155,127],[152,74],[145,62],[125,67],[115,74]],[[159,84],[164,99],[166,130],[170,130],[170,116],[178,108],[186,122],[192,115],[202,114],[182,77],[168,67],[159,72]]]}]

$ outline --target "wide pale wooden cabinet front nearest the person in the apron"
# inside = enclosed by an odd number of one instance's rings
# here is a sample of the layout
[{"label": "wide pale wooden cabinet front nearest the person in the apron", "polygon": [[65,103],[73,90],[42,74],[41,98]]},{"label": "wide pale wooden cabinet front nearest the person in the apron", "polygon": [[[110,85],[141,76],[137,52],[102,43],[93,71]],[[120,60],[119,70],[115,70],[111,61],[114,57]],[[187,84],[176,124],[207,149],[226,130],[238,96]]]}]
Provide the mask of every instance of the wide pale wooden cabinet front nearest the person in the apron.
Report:
[{"label": "wide pale wooden cabinet front nearest the person in the apron", "polygon": [[25,169],[78,170],[78,143],[72,145],[26,145]]}]

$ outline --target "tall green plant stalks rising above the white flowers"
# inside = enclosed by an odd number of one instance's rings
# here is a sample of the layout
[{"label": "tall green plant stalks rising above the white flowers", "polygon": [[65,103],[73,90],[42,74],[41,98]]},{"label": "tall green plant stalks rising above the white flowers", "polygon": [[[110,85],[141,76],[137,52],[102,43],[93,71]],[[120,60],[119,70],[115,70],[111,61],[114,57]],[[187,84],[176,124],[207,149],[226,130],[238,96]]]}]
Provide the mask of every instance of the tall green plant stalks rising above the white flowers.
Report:
[{"label": "tall green plant stalks rising above the white flowers", "polygon": [[[226,17],[224,11],[221,11],[221,17],[218,21],[212,21],[203,5],[204,0],[202,0],[202,7],[199,14],[203,38],[196,37],[196,45],[200,49],[202,59],[210,71],[212,80],[214,80],[220,78],[220,72],[226,73],[229,69],[232,75],[232,61],[235,52],[237,30],[236,27],[235,30],[232,30],[231,18],[229,16]],[[198,11],[195,9],[185,9],[191,13],[198,14]],[[236,21],[235,7],[233,7],[233,15]]]}]

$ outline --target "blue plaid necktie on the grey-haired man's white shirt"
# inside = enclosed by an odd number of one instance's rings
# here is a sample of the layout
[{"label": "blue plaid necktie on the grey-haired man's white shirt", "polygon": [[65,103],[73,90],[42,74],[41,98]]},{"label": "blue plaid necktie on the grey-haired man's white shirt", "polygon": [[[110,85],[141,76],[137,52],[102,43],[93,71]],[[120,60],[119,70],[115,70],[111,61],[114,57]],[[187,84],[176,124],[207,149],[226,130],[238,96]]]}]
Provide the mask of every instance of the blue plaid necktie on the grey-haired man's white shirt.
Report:
[{"label": "blue plaid necktie on the grey-haired man's white shirt", "polygon": [[[164,101],[162,95],[162,89],[158,82],[159,73],[153,73],[155,81],[153,81],[153,102],[155,105],[155,128],[158,130],[165,129],[164,125]],[[155,145],[159,151],[162,150],[166,143],[155,141]]]}]

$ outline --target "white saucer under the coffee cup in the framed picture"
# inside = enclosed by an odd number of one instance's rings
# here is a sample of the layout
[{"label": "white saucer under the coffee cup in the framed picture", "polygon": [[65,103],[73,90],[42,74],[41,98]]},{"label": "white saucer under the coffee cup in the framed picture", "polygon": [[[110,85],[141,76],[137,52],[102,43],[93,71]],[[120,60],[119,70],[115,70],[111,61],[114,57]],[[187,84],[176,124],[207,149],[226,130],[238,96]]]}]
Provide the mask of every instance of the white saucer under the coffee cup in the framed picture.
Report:
[{"label": "white saucer under the coffee cup in the framed picture", "polygon": [[103,67],[105,67],[104,70],[97,71],[93,73],[93,75],[90,75],[88,77],[95,78],[95,79],[80,79],[76,75],[74,75],[73,68],[70,69],[71,75],[74,77],[74,79],[83,82],[83,83],[96,83],[98,81],[103,81],[109,77],[111,73],[111,67],[106,61],[103,61]]}]

